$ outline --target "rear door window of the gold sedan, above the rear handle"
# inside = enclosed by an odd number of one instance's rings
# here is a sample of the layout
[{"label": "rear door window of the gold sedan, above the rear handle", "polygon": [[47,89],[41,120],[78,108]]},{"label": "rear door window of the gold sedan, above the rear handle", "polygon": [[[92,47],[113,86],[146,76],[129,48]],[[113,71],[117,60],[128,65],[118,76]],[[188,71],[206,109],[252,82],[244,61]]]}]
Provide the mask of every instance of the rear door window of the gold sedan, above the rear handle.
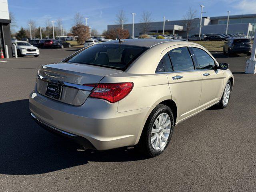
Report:
[{"label": "rear door window of the gold sedan, above the rear handle", "polygon": [[194,70],[193,60],[187,47],[179,47],[169,51],[174,71]]}]

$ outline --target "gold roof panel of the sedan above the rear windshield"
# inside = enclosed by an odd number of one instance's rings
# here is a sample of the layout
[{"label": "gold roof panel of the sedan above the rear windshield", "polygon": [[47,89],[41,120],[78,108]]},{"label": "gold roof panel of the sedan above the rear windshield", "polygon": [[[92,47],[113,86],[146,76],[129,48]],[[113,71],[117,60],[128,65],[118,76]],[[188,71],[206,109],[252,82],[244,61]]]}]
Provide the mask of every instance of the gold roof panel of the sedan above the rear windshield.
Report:
[{"label": "gold roof panel of the sedan above the rear windshield", "polygon": [[112,40],[107,42],[102,42],[101,44],[122,44],[122,45],[132,45],[132,46],[142,46],[142,47],[152,47],[164,42],[174,42],[179,43],[179,40],[171,39],[124,39],[122,43],[119,43],[118,40]]}]

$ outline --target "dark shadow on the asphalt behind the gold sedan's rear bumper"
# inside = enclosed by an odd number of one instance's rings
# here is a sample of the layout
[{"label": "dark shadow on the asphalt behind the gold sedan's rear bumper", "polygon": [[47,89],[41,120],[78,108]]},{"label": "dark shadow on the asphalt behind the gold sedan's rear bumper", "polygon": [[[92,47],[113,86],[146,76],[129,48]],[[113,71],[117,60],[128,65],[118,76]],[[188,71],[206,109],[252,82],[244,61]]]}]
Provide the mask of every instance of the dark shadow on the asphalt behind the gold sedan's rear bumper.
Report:
[{"label": "dark shadow on the asphalt behind the gold sedan's rear bumper", "polygon": [[0,174],[42,174],[94,162],[145,159],[134,148],[80,150],[66,138],[40,128],[30,117],[28,99],[0,103]]}]

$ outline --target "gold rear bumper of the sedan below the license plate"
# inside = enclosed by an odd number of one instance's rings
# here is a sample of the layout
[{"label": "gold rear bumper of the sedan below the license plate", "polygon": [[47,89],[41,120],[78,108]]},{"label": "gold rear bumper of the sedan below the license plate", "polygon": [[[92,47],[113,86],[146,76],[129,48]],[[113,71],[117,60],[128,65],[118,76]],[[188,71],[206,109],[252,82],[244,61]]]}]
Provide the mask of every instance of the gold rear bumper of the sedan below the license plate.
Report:
[{"label": "gold rear bumper of the sedan below the license plate", "polygon": [[111,104],[94,98],[88,98],[82,106],[72,106],[47,98],[36,90],[29,97],[30,112],[37,120],[44,122],[47,128],[53,127],[58,129],[58,133],[63,131],[65,134],[80,136],[97,150],[137,144],[153,109],[120,113],[117,112],[117,106],[118,102]]}]

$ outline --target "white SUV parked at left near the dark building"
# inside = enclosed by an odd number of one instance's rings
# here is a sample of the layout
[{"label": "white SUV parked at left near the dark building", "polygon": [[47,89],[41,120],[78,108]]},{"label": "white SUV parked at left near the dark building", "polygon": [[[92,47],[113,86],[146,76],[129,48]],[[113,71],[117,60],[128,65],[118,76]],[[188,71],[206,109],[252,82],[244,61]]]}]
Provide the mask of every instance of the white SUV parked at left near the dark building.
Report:
[{"label": "white SUV parked at left near the dark building", "polygon": [[14,44],[17,46],[17,55],[18,57],[34,55],[34,57],[38,57],[40,52],[39,49],[35,46],[32,46],[30,43],[26,41],[15,41]]}]

